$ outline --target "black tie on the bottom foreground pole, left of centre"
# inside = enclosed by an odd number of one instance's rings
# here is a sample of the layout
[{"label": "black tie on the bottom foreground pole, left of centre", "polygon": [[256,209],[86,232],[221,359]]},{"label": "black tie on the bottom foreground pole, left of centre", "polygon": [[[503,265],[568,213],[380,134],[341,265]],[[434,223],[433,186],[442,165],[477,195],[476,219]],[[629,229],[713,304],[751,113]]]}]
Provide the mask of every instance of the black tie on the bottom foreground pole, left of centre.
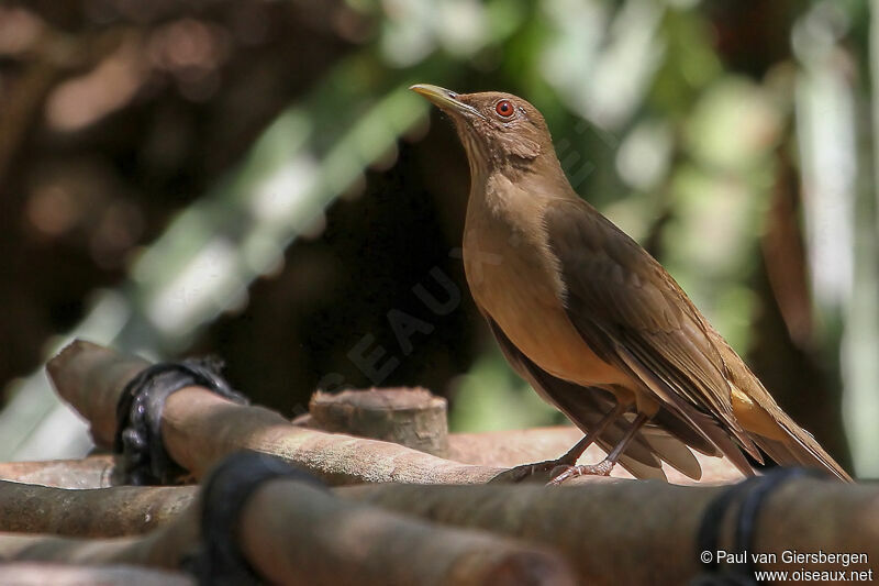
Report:
[{"label": "black tie on the bottom foreground pole, left of centre", "polygon": [[237,452],[214,468],[201,491],[201,545],[183,562],[183,570],[200,585],[249,586],[264,584],[240,545],[240,517],[254,491],[264,483],[290,478],[326,487],[316,477],[280,457],[253,451]]}]

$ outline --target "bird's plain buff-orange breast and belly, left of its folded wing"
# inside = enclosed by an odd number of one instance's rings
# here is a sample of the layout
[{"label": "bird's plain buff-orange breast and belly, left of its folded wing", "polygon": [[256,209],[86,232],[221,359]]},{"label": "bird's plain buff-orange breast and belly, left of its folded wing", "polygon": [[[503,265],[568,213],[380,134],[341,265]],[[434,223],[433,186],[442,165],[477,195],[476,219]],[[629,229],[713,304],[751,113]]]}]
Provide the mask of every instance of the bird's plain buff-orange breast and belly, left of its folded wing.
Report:
[{"label": "bird's plain buff-orange breast and belly, left of its folded wing", "polygon": [[581,385],[628,386],[568,320],[557,262],[539,223],[533,226],[528,231],[490,213],[468,213],[464,268],[474,299],[544,371]]}]

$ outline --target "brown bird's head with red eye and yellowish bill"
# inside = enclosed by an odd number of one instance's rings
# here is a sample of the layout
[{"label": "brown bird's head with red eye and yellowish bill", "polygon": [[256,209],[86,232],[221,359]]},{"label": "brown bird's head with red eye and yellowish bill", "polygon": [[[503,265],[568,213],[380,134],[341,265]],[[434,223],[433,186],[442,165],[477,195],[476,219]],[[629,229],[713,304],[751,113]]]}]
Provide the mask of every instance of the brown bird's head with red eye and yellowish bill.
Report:
[{"label": "brown bird's head with red eye and yellowish bill", "polygon": [[452,118],[475,175],[557,161],[543,115],[522,98],[498,91],[456,93],[427,84],[410,89]]}]

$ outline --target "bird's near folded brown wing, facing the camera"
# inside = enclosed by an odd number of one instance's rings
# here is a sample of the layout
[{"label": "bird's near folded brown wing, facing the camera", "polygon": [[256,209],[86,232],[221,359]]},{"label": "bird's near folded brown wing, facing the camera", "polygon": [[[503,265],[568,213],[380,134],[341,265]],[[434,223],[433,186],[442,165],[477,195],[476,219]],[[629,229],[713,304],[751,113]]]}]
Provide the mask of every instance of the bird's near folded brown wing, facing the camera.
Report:
[{"label": "bird's near folded brown wing, facing the camera", "polygon": [[565,308],[592,351],[714,443],[744,473],[730,440],[761,456],[733,413],[726,365],[704,318],[644,248],[580,199],[553,200],[543,221],[565,284]]}]

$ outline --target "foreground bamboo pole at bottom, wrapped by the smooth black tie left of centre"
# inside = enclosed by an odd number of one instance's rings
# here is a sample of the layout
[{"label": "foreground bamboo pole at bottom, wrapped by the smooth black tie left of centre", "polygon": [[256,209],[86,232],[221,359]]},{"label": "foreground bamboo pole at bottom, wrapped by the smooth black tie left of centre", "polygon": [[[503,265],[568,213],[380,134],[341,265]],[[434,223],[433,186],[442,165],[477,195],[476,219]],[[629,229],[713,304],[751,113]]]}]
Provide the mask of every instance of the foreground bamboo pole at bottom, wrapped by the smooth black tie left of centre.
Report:
[{"label": "foreground bamboo pole at bottom, wrapped by the smooth black tie left of centre", "polygon": [[[178,568],[199,546],[200,510],[196,501],[141,537],[4,533],[0,560]],[[285,478],[256,489],[242,509],[238,535],[247,562],[272,584],[575,584],[567,564],[537,545],[438,527]]]}]

